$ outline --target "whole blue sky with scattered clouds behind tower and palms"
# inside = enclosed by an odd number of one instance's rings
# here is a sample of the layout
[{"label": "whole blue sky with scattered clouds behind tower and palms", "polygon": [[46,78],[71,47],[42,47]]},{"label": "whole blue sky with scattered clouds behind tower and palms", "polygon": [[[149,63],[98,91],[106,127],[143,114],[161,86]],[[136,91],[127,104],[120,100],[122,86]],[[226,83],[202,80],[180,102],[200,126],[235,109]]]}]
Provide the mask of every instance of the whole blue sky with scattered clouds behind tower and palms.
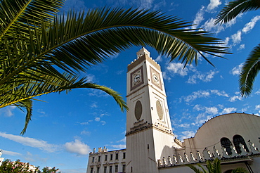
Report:
[{"label": "whole blue sky with scattered clouds behind tower and palms", "polygon": [[[214,25],[214,18],[226,1],[221,0],[68,0],[63,8],[79,11],[103,6],[149,8],[177,15],[202,30],[213,32],[230,47],[232,55],[223,58],[209,56],[215,68],[204,60],[183,69],[178,61],[160,56],[145,47],[162,67],[167,91],[172,128],[178,139],[195,135],[208,119],[225,113],[260,114],[260,84],[256,77],[249,98],[238,93],[238,75],[249,52],[260,42],[259,11],[239,15],[226,25]],[[89,80],[111,87],[126,96],[126,67],[136,58],[141,47],[133,47],[104,63],[82,73]],[[69,94],[41,96],[44,102],[34,101],[32,122],[27,133],[20,136],[25,113],[18,108],[0,110],[0,149],[2,157],[20,159],[32,165],[59,167],[62,172],[86,172],[89,152],[106,146],[109,150],[125,148],[126,113],[113,99],[101,91],[77,89]]]}]

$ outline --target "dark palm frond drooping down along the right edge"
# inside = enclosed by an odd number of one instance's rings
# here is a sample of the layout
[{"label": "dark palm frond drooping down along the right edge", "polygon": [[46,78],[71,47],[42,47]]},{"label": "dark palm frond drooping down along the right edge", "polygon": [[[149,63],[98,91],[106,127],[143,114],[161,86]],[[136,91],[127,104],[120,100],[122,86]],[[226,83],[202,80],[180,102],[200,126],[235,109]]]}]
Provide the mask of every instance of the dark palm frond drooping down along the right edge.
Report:
[{"label": "dark palm frond drooping down along the right edge", "polygon": [[241,96],[249,96],[253,90],[254,80],[260,70],[260,44],[249,54],[249,57],[242,66],[239,85]]}]

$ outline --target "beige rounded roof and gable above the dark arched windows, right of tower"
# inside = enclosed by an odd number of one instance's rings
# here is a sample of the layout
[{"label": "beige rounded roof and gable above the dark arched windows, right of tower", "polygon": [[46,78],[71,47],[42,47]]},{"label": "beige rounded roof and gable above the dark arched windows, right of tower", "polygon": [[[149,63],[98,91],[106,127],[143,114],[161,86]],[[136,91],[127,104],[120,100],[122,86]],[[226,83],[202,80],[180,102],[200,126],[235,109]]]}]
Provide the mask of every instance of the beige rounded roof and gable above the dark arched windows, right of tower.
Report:
[{"label": "beige rounded roof and gable above the dark arched windows, right of tower", "polygon": [[219,115],[205,122],[197,130],[193,141],[195,146],[207,146],[219,143],[222,137],[233,140],[235,134],[243,136],[245,141],[258,143],[260,136],[260,117],[246,113]]}]

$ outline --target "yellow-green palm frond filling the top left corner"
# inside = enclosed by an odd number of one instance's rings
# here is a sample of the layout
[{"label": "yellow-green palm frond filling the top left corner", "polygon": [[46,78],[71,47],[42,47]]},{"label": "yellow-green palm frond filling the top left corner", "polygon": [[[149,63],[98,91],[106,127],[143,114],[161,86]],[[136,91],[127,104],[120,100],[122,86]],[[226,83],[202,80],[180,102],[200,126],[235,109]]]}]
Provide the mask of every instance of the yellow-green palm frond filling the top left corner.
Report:
[{"label": "yellow-green palm frond filling the top left corner", "polygon": [[1,0],[0,1],[0,39],[12,36],[15,30],[27,33],[27,27],[32,28],[44,21],[51,23],[64,0]]}]

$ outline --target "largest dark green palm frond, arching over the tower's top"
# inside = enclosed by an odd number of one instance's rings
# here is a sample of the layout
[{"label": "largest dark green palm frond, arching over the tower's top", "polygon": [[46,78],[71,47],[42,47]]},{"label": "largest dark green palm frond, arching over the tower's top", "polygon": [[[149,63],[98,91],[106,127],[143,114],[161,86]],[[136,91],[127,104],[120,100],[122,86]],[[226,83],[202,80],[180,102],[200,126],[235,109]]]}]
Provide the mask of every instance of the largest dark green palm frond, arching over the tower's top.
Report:
[{"label": "largest dark green palm frond, arching over the tower's top", "polygon": [[[185,29],[190,26],[188,23],[164,16],[159,11],[115,8],[89,11],[84,19],[82,16],[84,13],[70,13],[66,20],[56,19],[48,30],[30,31],[31,38],[37,39],[27,41],[27,49],[22,47],[22,42],[13,41],[20,46],[12,47],[18,50],[8,51],[11,46],[6,44],[3,57],[9,58],[1,66],[9,72],[0,83],[28,68],[36,69],[34,67],[51,75],[52,71],[45,68],[50,62],[67,72],[84,70],[131,46],[149,45],[170,56],[171,60],[178,58],[185,64],[193,60],[197,63],[197,53],[208,62],[204,53],[215,56],[228,53],[226,47],[212,46],[221,43],[211,34]],[[44,27],[44,23],[41,26]]]}]

